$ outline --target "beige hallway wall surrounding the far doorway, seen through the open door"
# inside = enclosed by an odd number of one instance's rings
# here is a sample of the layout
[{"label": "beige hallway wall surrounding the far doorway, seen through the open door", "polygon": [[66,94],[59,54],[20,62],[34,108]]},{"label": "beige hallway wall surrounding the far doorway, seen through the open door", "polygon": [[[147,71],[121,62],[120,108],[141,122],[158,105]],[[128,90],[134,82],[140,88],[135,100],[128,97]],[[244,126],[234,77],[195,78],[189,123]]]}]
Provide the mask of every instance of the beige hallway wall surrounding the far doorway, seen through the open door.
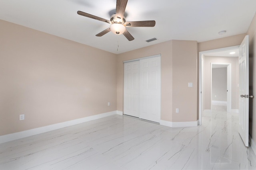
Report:
[{"label": "beige hallway wall surrounding the far doorway, seen through the open door", "polygon": [[211,63],[231,63],[231,109],[238,109],[239,96],[239,75],[238,57],[204,57],[204,78],[203,78],[203,108],[210,109],[211,106]]}]

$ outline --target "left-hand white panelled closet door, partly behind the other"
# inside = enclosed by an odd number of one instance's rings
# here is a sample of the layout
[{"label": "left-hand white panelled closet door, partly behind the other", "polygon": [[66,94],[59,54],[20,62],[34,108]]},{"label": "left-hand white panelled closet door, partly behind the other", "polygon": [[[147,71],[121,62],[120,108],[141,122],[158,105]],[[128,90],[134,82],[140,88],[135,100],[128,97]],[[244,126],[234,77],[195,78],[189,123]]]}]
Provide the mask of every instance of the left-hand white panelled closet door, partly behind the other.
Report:
[{"label": "left-hand white panelled closet door, partly behind the other", "polygon": [[140,61],[124,63],[124,114],[139,117]]}]

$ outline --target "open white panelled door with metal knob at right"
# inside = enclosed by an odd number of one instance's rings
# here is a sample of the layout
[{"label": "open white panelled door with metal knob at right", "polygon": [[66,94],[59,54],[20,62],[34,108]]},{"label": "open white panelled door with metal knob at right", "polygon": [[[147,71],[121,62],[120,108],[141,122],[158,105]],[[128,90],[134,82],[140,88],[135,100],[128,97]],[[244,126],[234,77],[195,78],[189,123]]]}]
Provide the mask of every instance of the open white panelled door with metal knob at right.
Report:
[{"label": "open white panelled door with metal knob at right", "polygon": [[249,37],[239,47],[239,134],[244,145],[249,145]]}]

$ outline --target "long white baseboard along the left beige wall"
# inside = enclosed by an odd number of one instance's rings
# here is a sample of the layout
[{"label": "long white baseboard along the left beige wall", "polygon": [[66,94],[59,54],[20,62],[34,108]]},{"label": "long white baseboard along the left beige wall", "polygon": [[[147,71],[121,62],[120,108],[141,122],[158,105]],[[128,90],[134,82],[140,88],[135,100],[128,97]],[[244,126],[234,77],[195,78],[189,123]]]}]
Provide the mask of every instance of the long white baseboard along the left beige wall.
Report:
[{"label": "long white baseboard along the left beige wall", "polygon": [[110,112],[107,112],[107,113],[101,113],[101,114],[98,114],[98,115],[92,115],[92,116],[83,117],[83,118],[80,118],[80,119],[65,121],[65,122],[62,122],[62,123],[56,123],[56,124],[53,124],[53,125],[38,127],[38,128],[35,128],[35,129],[30,129],[30,130],[26,130],[26,131],[17,132],[17,133],[11,133],[11,134],[8,134],[8,135],[2,135],[2,136],[0,136],[0,143],[5,143],[5,142],[13,141],[13,140],[16,140],[16,139],[21,139],[21,138],[24,138],[24,137],[29,137],[29,136],[32,136],[32,135],[37,135],[37,134],[40,134],[40,133],[53,131],[53,130],[60,129],[60,128],[63,128],[63,127],[77,125],[79,123],[84,123],[84,122],[87,122],[87,121],[100,119],[100,118],[107,117],[107,116],[110,116],[110,115],[115,115],[115,114],[118,114],[118,113],[120,113],[120,111],[110,111]]}]

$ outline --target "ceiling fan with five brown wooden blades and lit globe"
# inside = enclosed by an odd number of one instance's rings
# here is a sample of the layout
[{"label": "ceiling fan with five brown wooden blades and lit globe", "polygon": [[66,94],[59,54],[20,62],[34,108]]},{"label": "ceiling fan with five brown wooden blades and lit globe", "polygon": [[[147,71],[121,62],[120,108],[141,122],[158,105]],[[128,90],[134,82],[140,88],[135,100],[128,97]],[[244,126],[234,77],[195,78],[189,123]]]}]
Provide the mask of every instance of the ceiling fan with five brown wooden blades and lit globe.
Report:
[{"label": "ceiling fan with five brown wooden blades and lit globe", "polygon": [[102,35],[105,35],[106,33],[112,31],[114,34],[117,34],[117,35],[124,34],[124,36],[129,41],[132,41],[134,40],[134,37],[132,37],[132,35],[127,31],[126,27],[154,27],[156,25],[156,21],[151,20],[151,21],[126,22],[124,18],[124,12],[125,12],[127,2],[128,0],[116,0],[116,14],[113,14],[110,17],[110,20],[106,20],[104,18],[100,18],[98,16],[94,16],[82,11],[78,11],[77,14],[111,24],[109,28],[98,33],[96,35],[97,37],[101,37]]}]

